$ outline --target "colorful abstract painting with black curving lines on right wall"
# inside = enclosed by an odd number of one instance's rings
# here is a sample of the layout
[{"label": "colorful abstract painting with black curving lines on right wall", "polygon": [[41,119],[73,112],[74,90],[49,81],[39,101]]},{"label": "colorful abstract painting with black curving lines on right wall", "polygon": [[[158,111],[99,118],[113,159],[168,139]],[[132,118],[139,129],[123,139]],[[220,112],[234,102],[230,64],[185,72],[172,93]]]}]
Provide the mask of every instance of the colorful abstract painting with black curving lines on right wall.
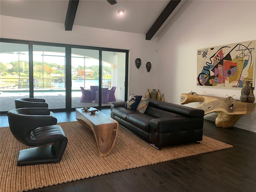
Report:
[{"label": "colorful abstract painting with black curving lines on right wall", "polygon": [[197,50],[197,85],[242,88],[254,86],[255,43],[241,42]]}]

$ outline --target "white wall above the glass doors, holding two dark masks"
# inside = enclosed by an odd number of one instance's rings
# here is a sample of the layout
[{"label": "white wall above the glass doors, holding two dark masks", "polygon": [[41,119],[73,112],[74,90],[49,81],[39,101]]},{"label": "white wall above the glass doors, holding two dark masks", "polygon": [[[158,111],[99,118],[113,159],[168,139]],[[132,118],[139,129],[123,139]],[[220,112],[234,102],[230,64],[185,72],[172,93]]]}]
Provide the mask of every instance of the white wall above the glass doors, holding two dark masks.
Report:
[{"label": "white wall above the glass doors, holding two dark masks", "polygon": [[[158,62],[157,41],[145,40],[144,34],[75,25],[72,31],[65,31],[64,24],[1,15],[0,37],[130,50],[128,94],[145,95],[148,85],[155,83],[154,71],[147,72],[146,62],[150,61],[152,68]],[[136,58],[142,60],[139,69],[135,66]]]}]

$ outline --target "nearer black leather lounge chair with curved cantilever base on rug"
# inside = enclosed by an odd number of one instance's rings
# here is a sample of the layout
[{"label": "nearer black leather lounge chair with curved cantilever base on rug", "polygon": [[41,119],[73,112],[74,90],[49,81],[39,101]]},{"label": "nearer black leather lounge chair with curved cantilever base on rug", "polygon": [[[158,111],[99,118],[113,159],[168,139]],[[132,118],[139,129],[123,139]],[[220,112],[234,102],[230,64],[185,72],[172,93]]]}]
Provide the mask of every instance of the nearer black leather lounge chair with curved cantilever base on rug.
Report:
[{"label": "nearer black leather lounge chair with curved cantilever base on rug", "polygon": [[68,139],[48,108],[14,109],[7,115],[14,137],[34,147],[20,150],[18,166],[60,162]]}]

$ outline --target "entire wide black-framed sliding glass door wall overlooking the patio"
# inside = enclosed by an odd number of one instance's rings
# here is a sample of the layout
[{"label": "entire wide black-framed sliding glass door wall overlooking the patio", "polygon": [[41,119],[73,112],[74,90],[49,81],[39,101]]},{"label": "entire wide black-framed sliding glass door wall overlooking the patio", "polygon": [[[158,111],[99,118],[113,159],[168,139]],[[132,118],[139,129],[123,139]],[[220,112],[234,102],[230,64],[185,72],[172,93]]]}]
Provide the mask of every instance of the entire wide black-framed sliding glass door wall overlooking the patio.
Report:
[{"label": "entire wide black-framed sliding glass door wall overlooking the patio", "polygon": [[127,100],[128,50],[0,39],[0,113],[16,98],[51,110],[109,108]]}]

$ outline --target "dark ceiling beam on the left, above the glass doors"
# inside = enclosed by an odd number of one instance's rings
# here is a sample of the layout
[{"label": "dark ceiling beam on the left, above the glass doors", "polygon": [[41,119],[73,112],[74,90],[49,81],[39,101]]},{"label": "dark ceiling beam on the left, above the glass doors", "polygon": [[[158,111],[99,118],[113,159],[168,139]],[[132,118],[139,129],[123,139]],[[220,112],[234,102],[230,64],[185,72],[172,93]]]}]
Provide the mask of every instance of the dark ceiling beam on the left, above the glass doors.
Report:
[{"label": "dark ceiling beam on the left, above the glass doors", "polygon": [[68,2],[68,10],[67,10],[67,15],[65,20],[66,31],[72,31],[78,3],[79,3],[79,0],[69,0]]}]

